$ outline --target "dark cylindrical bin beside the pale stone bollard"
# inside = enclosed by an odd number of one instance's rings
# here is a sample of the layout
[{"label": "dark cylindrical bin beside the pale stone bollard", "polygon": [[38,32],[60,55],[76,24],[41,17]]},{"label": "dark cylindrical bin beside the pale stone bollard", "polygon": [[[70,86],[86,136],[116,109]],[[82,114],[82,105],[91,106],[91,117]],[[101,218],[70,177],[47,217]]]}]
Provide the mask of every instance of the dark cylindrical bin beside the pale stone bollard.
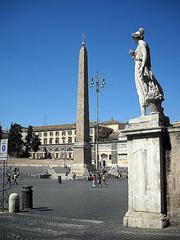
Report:
[{"label": "dark cylindrical bin beside the pale stone bollard", "polygon": [[33,190],[32,186],[23,185],[22,190],[22,209],[32,209],[33,208]]}]

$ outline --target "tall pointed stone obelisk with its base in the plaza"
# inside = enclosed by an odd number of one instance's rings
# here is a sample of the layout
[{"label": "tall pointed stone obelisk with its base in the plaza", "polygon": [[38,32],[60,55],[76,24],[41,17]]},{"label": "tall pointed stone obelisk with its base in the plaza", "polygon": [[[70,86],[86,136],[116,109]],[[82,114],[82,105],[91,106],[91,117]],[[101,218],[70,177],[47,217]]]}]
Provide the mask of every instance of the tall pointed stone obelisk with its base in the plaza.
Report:
[{"label": "tall pointed stone obelisk with its base in the plaza", "polygon": [[88,54],[83,37],[79,52],[78,96],[76,119],[76,143],[72,171],[77,176],[88,175],[91,165],[91,145],[89,143],[89,96],[88,96]]}]

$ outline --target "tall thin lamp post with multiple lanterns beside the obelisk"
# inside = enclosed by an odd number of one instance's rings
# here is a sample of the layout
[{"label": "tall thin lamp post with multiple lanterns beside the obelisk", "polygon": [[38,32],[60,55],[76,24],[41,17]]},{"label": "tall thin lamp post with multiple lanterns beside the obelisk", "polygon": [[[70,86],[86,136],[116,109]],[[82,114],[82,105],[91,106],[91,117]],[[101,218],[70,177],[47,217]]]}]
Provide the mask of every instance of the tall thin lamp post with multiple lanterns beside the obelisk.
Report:
[{"label": "tall thin lamp post with multiple lanterns beside the obelisk", "polygon": [[[105,87],[105,79],[97,74],[95,76],[96,84],[96,169],[99,171],[99,90]],[[94,86],[94,78],[91,79],[90,87]]]}]

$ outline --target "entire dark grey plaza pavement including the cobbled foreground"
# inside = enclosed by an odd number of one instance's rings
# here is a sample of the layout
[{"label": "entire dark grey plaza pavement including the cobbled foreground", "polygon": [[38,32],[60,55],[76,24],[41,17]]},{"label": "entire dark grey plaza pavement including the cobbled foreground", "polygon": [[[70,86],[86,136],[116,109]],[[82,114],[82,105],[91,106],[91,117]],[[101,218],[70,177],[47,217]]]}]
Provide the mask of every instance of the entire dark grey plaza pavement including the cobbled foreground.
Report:
[{"label": "entire dark grey plaza pavement including the cobbled foreground", "polygon": [[116,240],[180,239],[180,229],[124,228],[127,180],[109,180],[93,189],[88,181],[23,178],[11,192],[21,198],[22,185],[33,185],[34,208],[18,214],[0,213],[0,239]]}]

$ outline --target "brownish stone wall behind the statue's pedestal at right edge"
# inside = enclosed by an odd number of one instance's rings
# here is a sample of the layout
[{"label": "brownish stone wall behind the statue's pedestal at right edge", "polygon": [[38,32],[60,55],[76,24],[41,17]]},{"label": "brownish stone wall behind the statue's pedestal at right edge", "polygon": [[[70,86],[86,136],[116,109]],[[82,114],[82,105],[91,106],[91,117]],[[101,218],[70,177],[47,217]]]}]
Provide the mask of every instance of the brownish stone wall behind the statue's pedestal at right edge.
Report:
[{"label": "brownish stone wall behind the statue's pedestal at right edge", "polygon": [[180,225],[180,126],[168,129],[170,149],[166,151],[167,213],[171,224]]}]

